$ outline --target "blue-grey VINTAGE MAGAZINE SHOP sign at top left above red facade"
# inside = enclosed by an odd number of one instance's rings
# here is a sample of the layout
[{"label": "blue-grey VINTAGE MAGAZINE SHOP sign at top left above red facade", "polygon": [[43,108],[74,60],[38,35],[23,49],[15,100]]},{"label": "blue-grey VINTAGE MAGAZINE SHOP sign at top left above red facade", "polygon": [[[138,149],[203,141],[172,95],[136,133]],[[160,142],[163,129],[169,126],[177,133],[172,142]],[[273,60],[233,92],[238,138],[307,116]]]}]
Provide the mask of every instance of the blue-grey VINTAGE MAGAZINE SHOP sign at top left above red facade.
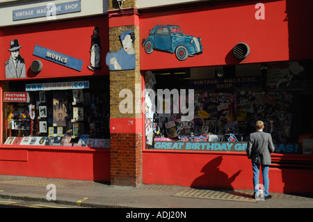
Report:
[{"label": "blue-grey VINTAGE MAGAZINE SHOP sign at top left above red facade", "polygon": [[51,19],[51,16],[53,15],[77,13],[80,11],[81,1],[70,1],[58,4],[49,3],[46,6],[13,10],[13,21],[36,17],[47,17],[48,19]]}]

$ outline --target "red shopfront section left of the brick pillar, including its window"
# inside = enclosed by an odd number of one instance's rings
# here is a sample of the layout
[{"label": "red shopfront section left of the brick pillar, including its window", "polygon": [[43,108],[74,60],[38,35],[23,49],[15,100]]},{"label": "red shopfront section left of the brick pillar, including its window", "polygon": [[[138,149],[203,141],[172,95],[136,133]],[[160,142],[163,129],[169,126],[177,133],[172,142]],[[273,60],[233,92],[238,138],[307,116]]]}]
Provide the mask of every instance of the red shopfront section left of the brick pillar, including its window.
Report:
[{"label": "red shopfront section left of the brick pillar, including its window", "polygon": [[2,175],[110,180],[108,33],[106,15],[1,29]]}]

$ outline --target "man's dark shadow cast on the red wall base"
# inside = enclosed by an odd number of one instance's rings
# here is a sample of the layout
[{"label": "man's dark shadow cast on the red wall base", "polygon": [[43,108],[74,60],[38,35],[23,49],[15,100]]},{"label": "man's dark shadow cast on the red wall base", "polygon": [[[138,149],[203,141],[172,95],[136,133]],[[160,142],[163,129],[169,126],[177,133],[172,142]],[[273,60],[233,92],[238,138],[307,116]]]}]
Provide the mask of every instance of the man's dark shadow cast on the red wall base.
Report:
[{"label": "man's dark shadow cast on the red wall base", "polygon": [[234,190],[232,182],[234,182],[241,171],[238,171],[231,177],[228,177],[226,173],[220,171],[218,168],[218,166],[222,163],[222,160],[223,157],[219,156],[205,164],[201,170],[204,174],[195,178],[191,187]]}]

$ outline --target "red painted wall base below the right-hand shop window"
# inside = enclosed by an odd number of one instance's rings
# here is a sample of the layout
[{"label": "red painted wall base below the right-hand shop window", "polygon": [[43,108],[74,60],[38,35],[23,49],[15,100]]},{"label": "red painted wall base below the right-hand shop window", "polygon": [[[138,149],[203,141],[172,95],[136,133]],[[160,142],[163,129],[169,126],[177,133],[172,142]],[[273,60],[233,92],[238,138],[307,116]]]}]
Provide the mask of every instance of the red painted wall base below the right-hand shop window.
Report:
[{"label": "red painted wall base below the right-hand shop window", "polygon": [[[272,154],[270,192],[313,193],[312,155],[307,166],[287,166],[282,154]],[[299,158],[301,158],[299,156]],[[303,163],[305,160],[301,160]],[[252,190],[252,165],[245,153],[143,152],[143,183],[210,189]],[[260,173],[260,183],[262,174]]]}]

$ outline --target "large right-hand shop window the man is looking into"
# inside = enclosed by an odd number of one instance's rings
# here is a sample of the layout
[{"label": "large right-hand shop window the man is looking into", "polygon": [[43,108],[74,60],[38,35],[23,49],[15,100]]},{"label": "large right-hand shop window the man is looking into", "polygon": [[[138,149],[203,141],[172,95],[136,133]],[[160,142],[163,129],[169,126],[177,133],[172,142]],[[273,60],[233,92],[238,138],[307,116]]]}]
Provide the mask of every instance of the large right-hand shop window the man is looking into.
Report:
[{"label": "large right-hand shop window the man is looking into", "polygon": [[[212,150],[202,142],[248,141],[255,122],[262,120],[264,132],[272,135],[275,152],[307,153],[303,144],[312,145],[313,118],[303,114],[307,104],[312,104],[310,70],[310,61],[282,61],[146,72],[145,88],[154,91],[152,97],[145,96],[146,148],[179,150],[186,145],[179,141],[188,141],[198,143],[188,150]],[[170,99],[161,100],[170,111],[159,113],[157,91],[166,88]],[[186,90],[184,103],[193,108],[191,120],[182,121],[186,114],[181,112],[182,104],[174,102],[175,89]],[[194,90],[193,104],[188,102],[190,89]],[[179,101],[181,98],[179,95]],[[226,148],[214,149],[234,151]]]}]

